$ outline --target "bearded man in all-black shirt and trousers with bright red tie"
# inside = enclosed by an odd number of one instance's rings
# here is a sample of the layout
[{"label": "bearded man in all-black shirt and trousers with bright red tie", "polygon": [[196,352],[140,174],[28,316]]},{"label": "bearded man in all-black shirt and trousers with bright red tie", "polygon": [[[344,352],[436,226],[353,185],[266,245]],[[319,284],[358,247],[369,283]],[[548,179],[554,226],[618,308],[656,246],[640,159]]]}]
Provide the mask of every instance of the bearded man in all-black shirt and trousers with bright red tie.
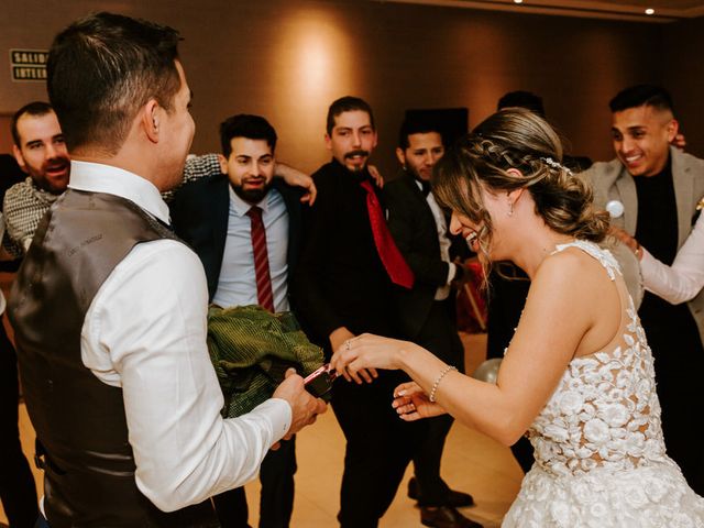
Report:
[{"label": "bearded man in all-black shirt and trousers with bright red tie", "polygon": [[[370,106],[355,97],[334,101],[326,143],[333,160],[312,176],[318,198],[306,211],[293,300],[306,332],[330,358],[363,332],[402,336],[393,290],[410,287],[413,274],[393,244],[371,183],[367,160],[376,130]],[[382,242],[384,234],[391,244]],[[338,515],[344,528],[378,525],[426,427],[399,420],[391,406],[394,388],[407,380],[402,373],[360,375],[359,384],[337,380],[332,387],[332,409],[346,439]]]}]

